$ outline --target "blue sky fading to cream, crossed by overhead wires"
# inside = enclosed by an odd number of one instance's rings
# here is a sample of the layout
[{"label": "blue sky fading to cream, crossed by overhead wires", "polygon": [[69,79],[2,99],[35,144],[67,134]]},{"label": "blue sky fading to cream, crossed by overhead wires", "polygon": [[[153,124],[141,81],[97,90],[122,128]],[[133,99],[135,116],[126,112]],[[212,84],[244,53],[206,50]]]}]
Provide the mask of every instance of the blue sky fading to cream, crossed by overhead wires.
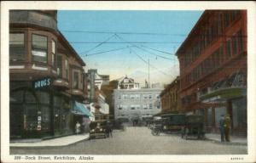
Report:
[{"label": "blue sky fading to cream, crossed by overhead wires", "polygon": [[[130,76],[144,85],[179,75],[175,52],[203,11],[58,11],[58,28],[86,63],[110,80]],[[161,51],[161,52],[160,52]]]}]

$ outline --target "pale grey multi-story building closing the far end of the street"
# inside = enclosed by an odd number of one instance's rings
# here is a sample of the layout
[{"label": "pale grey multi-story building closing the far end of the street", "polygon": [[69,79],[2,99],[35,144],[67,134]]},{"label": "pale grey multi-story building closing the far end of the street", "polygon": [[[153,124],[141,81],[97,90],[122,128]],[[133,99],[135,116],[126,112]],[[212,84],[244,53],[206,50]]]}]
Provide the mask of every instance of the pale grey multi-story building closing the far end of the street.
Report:
[{"label": "pale grey multi-story building closing the far end of the street", "polygon": [[141,118],[145,115],[155,115],[160,109],[160,88],[115,89],[114,118]]}]

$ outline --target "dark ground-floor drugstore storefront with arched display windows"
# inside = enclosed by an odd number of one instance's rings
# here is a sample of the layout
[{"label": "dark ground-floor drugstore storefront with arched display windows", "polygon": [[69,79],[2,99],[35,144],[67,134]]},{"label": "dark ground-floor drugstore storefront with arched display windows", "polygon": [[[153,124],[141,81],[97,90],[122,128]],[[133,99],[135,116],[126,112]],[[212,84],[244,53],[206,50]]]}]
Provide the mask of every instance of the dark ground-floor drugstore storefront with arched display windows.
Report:
[{"label": "dark ground-floor drugstore storefront with arched display windows", "polygon": [[10,138],[58,137],[73,133],[70,97],[33,82],[10,82]]}]

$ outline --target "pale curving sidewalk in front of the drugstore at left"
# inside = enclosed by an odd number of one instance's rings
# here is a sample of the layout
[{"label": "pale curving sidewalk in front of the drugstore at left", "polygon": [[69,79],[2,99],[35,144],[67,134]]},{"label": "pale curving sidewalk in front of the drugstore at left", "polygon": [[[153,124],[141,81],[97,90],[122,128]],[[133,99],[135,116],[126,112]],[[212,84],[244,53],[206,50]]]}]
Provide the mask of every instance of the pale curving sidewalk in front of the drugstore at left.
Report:
[{"label": "pale curving sidewalk in front of the drugstore at left", "polygon": [[30,142],[22,141],[9,143],[10,147],[58,147],[58,146],[67,146],[73,143],[78,143],[83,140],[89,139],[89,133],[79,134],[79,135],[71,135],[67,137],[61,138],[53,138],[48,140],[41,139],[32,139]]}]

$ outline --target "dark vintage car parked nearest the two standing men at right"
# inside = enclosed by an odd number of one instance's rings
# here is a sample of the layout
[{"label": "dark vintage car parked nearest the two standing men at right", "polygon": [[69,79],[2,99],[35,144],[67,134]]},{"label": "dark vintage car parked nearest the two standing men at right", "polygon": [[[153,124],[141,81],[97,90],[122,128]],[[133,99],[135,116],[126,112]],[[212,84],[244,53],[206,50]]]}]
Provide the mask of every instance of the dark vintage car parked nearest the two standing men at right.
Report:
[{"label": "dark vintage car parked nearest the two standing men at right", "polygon": [[186,116],[186,124],[183,127],[182,138],[205,138],[203,115]]}]

